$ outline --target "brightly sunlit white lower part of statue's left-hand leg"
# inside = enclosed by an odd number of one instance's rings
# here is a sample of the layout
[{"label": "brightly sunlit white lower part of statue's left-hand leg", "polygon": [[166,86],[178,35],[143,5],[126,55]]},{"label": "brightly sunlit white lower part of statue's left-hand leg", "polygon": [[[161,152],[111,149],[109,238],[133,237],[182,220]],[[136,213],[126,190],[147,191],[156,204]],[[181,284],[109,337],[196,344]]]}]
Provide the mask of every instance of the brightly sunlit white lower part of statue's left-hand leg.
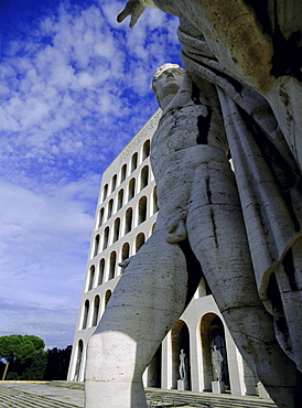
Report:
[{"label": "brightly sunlit white lower part of statue's left-hand leg", "polygon": [[90,337],[85,408],[147,408],[136,352],[136,342],[120,332],[106,331]]}]

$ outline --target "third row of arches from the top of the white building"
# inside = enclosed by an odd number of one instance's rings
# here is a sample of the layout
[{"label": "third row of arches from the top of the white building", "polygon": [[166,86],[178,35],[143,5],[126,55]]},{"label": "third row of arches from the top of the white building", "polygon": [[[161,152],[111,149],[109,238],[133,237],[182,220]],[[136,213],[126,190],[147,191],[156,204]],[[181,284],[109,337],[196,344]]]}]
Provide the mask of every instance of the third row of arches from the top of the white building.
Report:
[{"label": "third row of arches from the top of the white building", "polygon": [[[154,189],[155,191],[155,189]],[[148,198],[143,195],[137,203],[133,211],[132,207],[126,210],[123,217],[117,217],[111,226],[107,226],[103,234],[97,234],[95,236],[95,241],[93,246],[91,258],[96,257],[100,251],[108,248],[108,246],[116,243],[118,239],[126,236],[138,225],[142,224],[150,216],[159,211],[157,205],[157,197],[153,194],[153,200],[148,205]]]}]

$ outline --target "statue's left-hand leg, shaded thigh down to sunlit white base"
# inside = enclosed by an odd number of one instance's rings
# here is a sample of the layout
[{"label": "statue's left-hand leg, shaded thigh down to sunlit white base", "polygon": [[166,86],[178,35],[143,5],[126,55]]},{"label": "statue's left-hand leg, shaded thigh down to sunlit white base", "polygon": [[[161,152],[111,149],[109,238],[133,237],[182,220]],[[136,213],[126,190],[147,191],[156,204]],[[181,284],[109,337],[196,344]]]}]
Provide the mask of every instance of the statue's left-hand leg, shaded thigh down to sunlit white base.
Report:
[{"label": "statue's left-hand leg, shaded thigh down to sunlit white base", "polygon": [[186,260],[177,244],[164,239],[159,218],[88,342],[86,408],[147,407],[142,374],[185,308]]}]

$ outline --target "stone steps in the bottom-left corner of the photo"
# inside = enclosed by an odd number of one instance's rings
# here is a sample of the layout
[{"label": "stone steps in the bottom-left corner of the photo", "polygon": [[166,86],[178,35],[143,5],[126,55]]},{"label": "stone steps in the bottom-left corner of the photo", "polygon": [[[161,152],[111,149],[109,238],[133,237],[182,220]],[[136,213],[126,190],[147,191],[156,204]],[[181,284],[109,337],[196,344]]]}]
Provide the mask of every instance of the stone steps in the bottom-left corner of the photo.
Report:
[{"label": "stone steps in the bottom-left corner of the photo", "polygon": [[12,388],[0,387],[1,408],[78,408],[68,402]]}]

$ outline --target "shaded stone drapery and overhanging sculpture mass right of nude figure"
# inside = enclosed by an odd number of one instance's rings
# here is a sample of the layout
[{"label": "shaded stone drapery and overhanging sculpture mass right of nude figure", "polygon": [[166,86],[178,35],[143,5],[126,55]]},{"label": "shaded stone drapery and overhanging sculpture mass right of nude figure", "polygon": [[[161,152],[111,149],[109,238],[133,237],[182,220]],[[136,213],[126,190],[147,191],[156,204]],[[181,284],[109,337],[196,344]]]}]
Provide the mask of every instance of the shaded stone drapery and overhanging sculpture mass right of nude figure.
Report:
[{"label": "shaded stone drapery and overhanging sculpture mass right of nude figure", "polygon": [[144,7],[180,18],[184,66],[215,87],[258,296],[301,373],[302,2],[132,0],[118,20],[133,26]]}]

